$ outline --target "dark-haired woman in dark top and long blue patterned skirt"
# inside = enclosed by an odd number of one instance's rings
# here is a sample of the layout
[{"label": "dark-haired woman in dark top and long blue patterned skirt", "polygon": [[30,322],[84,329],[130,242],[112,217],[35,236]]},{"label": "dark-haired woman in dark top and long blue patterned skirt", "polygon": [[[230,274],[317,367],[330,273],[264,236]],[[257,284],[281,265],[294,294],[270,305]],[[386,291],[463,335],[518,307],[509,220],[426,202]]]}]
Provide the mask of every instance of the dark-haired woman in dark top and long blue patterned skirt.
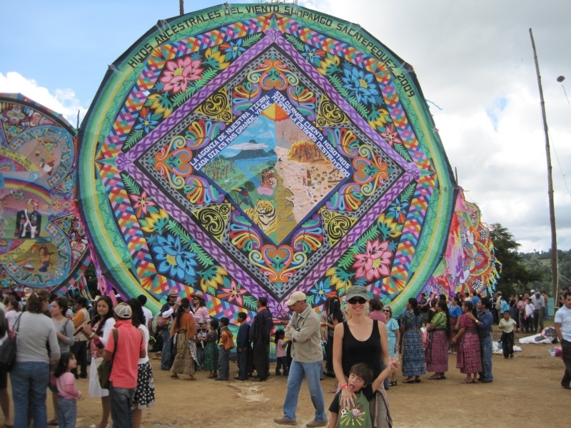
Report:
[{"label": "dark-haired woman in dark top and long blue patterned skirt", "polygon": [[423,315],[414,297],[408,299],[406,309],[400,317],[400,334],[403,338],[400,350],[403,352],[403,376],[407,377],[403,383],[410,384],[420,382],[420,374],[425,374],[423,333],[420,332]]}]

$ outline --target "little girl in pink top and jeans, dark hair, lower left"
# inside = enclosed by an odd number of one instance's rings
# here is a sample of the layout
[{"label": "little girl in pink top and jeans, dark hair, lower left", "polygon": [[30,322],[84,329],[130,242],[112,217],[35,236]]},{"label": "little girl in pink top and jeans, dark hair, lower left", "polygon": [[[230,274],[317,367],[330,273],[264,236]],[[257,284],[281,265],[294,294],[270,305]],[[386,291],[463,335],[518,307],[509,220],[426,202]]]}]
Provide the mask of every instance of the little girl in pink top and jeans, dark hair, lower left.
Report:
[{"label": "little girl in pink top and jeans, dark hair, lower left", "polygon": [[71,372],[77,367],[76,356],[64,352],[54,373],[58,387],[58,423],[60,428],[74,428],[77,419],[77,399],[81,392],[76,387],[76,377]]}]

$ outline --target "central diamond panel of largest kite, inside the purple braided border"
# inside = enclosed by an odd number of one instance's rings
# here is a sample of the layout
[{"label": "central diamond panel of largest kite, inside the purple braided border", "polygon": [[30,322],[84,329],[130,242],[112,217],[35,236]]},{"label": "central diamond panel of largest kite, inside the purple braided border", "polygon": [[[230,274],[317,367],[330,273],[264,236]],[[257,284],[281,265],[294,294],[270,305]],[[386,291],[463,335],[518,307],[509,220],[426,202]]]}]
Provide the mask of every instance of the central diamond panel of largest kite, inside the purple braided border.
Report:
[{"label": "central diamond panel of largest kite, inside the purple braided border", "polygon": [[143,138],[137,148],[148,149],[136,165],[158,183],[150,195],[166,190],[205,233],[218,234],[237,267],[280,298],[310,272],[323,273],[316,268],[323,255],[371,208],[380,213],[388,203],[380,198],[410,176],[396,153],[351,121],[348,106],[330,101],[333,88],[295,66],[295,52],[268,37],[257,46],[266,49],[243,54],[235,76],[223,71],[223,85],[205,91],[196,108],[186,103],[188,115],[157,143],[158,130]]}]

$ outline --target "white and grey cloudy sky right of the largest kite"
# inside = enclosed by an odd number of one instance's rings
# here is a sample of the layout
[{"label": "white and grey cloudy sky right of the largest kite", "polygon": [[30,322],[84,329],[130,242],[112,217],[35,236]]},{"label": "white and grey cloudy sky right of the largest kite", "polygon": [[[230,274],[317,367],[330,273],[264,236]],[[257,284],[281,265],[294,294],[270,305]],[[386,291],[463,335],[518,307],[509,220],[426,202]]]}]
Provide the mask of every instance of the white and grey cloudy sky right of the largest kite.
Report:
[{"label": "white and grey cloudy sky right of the largest kite", "polygon": [[564,181],[571,169],[571,105],[556,81],[571,68],[567,23],[571,4],[556,0],[301,0],[300,4],[360,24],[414,66],[424,96],[442,108],[429,103],[466,197],[477,203],[486,223],[502,223],[525,251],[551,246],[545,137],[531,27],[550,127],[557,244],[562,250],[571,248],[571,195]]}]

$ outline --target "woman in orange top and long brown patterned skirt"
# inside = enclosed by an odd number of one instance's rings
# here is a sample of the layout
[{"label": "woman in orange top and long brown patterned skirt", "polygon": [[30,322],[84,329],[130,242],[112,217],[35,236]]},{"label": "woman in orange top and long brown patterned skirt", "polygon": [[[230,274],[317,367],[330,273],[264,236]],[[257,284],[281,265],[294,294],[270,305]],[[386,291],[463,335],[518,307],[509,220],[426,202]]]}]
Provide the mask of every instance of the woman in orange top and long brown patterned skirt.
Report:
[{"label": "woman in orange top and long brown patterned skirt", "polygon": [[173,379],[178,379],[178,374],[183,373],[188,374],[186,380],[196,380],[196,377],[194,377],[196,370],[194,365],[196,359],[195,336],[196,325],[191,312],[191,302],[186,297],[183,297],[181,305],[178,305],[176,309],[176,318],[171,330],[171,337],[174,337],[176,349],[176,357],[174,358],[173,367],[171,367],[171,377]]}]

